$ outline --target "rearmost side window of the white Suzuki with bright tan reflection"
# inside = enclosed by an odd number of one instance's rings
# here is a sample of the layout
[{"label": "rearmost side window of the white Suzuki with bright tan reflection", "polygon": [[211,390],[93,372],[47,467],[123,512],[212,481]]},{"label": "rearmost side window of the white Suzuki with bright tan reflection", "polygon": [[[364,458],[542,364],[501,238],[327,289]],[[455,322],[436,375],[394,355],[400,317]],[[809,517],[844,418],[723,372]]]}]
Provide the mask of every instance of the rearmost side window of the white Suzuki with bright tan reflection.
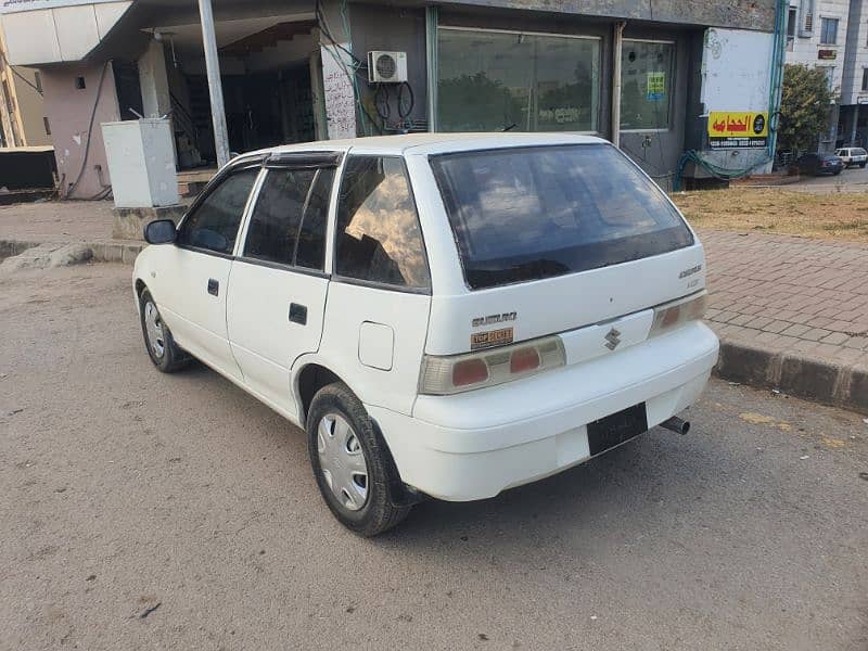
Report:
[{"label": "rearmost side window of the white Suzuki with bright tan reflection", "polygon": [[403,158],[347,158],[336,231],[337,275],[408,289],[430,286],[422,231]]}]

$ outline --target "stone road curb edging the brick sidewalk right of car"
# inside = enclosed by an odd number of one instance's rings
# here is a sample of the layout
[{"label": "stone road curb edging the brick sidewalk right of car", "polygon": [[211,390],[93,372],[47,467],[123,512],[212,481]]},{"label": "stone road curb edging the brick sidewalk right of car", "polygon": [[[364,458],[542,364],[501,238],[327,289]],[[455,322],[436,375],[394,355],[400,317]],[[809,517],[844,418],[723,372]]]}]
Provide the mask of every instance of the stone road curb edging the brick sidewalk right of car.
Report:
[{"label": "stone road curb edging the brick sidewalk right of car", "polygon": [[868,368],[720,339],[715,373],[724,380],[868,413]]}]

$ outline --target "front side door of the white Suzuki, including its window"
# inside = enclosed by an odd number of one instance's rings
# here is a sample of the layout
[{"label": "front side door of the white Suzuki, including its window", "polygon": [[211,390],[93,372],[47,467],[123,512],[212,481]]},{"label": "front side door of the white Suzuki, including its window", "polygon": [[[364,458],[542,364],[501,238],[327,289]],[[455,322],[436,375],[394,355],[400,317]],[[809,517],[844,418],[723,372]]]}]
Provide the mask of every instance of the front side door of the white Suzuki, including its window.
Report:
[{"label": "front side door of the white Suzuki, including its window", "polygon": [[232,173],[188,214],[176,246],[161,246],[154,298],[175,340],[205,363],[240,378],[226,327],[232,254],[258,165]]}]

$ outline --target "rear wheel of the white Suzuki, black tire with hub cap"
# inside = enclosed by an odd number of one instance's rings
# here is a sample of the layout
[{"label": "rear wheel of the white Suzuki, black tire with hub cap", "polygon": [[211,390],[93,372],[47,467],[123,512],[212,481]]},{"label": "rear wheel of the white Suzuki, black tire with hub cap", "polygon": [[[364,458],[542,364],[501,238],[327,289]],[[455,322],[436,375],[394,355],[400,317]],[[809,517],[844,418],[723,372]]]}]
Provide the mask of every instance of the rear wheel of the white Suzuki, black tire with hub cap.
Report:
[{"label": "rear wheel of the white Suzuki, black tire with hub cap", "polygon": [[334,516],[363,537],[400,523],[410,506],[397,503],[390,471],[394,462],[365,406],[343,382],[321,388],[307,419],[310,465]]}]

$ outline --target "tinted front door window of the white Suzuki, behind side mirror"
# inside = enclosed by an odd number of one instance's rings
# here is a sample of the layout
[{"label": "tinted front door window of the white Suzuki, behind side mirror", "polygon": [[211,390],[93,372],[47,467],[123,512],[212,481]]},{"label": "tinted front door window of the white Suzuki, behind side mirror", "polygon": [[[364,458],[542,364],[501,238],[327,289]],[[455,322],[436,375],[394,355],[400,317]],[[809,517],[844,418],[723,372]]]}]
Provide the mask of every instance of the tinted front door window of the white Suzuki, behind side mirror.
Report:
[{"label": "tinted front door window of the white Suzuki, behind side mirror", "polygon": [[181,245],[231,254],[258,168],[226,178],[187,216],[178,233]]}]

